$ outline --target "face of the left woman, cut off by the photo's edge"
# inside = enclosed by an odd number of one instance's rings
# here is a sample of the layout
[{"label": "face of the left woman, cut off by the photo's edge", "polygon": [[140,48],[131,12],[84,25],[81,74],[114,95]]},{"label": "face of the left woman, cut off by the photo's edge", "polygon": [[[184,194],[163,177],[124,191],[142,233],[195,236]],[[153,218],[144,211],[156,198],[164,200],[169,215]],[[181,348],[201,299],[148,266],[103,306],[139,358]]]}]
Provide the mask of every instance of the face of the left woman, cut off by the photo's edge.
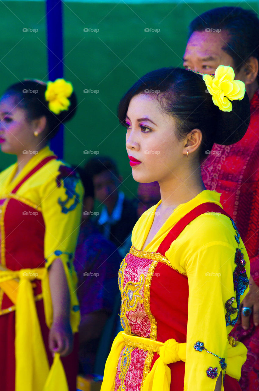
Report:
[{"label": "face of the left woman, cut off by the photo's edge", "polygon": [[[13,95],[4,95],[0,100],[0,147],[10,154],[28,152],[33,145],[32,125],[26,119],[26,111],[17,104]],[[27,152],[23,152],[27,151]]]}]

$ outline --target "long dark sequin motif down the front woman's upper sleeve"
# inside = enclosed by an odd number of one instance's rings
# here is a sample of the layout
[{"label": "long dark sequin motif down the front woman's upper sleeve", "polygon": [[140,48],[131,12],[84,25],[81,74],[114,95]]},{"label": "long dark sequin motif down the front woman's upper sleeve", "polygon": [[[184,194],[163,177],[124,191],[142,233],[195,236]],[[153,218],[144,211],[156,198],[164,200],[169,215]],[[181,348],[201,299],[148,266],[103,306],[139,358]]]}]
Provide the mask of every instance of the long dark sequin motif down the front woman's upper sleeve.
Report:
[{"label": "long dark sequin motif down the front woman's upper sleeve", "polygon": [[[247,289],[249,285],[249,280],[247,278],[247,273],[245,269],[245,260],[243,257],[243,254],[241,253],[241,250],[239,249],[239,233],[238,228],[236,224],[234,223],[234,220],[231,219],[232,225],[234,227],[234,230],[236,231],[235,239],[238,244],[238,248],[236,248],[236,254],[235,254],[235,264],[236,268],[233,273],[233,282],[234,282],[234,291],[236,292],[236,298],[232,296],[230,299],[228,299],[225,302],[225,309],[226,309],[226,325],[234,326],[238,320],[238,313],[239,313],[239,304],[240,304],[240,296],[244,294],[245,290]],[[233,303],[236,300],[236,306],[233,307]],[[231,315],[236,314],[236,317],[231,320]]]}]

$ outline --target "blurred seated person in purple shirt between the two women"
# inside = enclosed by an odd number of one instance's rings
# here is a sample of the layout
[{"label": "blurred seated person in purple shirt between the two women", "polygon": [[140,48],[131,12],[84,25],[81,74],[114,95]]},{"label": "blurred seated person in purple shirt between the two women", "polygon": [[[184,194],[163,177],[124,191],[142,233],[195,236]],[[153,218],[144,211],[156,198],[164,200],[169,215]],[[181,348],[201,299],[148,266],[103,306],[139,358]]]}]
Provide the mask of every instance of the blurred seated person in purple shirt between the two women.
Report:
[{"label": "blurred seated person in purple shirt between the two women", "polygon": [[75,252],[75,269],[78,275],[78,300],[81,322],[79,326],[79,373],[92,374],[101,333],[112,313],[119,294],[118,269],[121,257],[114,243],[100,232],[96,221],[90,218],[95,212],[94,185],[85,169],[76,169],[83,182],[85,195],[78,244]]}]

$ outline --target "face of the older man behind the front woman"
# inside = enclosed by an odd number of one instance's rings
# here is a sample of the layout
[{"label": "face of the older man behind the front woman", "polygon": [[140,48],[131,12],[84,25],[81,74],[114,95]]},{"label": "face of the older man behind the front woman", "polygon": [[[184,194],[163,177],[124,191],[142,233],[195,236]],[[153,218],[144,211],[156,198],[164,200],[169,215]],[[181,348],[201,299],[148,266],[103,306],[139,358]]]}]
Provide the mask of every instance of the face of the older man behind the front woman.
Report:
[{"label": "face of the older man behind the front woman", "polygon": [[[222,49],[222,47],[227,46],[228,41],[226,31],[211,32],[204,30],[193,32],[187,42],[183,56],[184,68],[206,74],[215,73],[219,65],[234,68],[234,60]],[[238,79],[237,75],[236,73],[236,79]]]}]

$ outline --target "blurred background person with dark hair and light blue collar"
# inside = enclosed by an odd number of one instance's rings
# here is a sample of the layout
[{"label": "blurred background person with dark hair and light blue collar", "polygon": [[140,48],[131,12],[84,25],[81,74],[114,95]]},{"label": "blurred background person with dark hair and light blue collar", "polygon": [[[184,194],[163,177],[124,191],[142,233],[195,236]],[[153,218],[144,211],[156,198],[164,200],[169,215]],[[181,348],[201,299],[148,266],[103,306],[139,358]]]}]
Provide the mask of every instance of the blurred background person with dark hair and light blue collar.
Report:
[{"label": "blurred background person with dark hair and light blue collar", "polygon": [[122,176],[114,160],[106,156],[92,158],[85,170],[94,183],[95,198],[103,205],[98,216],[100,231],[119,248],[137,221],[136,207],[119,190]]}]

